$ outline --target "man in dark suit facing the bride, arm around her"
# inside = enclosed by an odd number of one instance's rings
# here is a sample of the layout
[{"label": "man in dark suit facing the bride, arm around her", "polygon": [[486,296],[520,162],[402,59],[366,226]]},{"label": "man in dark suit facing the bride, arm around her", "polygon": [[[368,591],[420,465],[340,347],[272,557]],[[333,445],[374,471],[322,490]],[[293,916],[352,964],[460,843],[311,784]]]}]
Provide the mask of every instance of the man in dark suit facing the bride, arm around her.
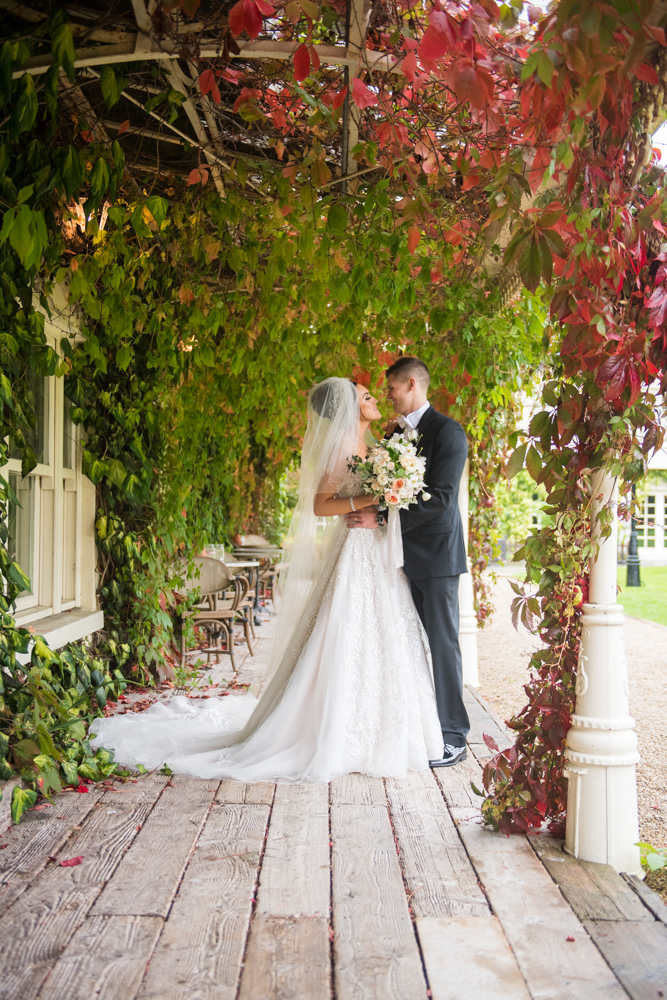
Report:
[{"label": "man in dark suit facing the bride, arm around her", "polygon": [[[403,569],[431,645],[433,679],[445,749],[431,767],[450,767],[466,759],[470,729],[463,704],[459,647],[459,575],[467,572],[459,481],[468,455],[463,428],[434,410],[426,398],[431,376],[419,358],[399,358],[387,369],[387,396],[396,420],[386,436],[404,428],[419,432],[426,457],[424,482],[429,500],[402,510]],[[348,515],[350,527],[375,527],[375,509]]]}]

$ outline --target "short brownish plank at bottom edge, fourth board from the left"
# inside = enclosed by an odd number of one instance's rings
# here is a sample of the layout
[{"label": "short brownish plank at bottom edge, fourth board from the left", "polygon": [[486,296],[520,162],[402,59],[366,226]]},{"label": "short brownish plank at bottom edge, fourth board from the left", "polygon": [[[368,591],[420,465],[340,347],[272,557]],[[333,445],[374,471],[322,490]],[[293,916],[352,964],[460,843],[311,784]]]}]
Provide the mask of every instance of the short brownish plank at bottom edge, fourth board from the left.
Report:
[{"label": "short brownish plank at bottom edge, fourth board from the left", "polygon": [[329,1000],[329,921],[255,916],[239,1000]]}]

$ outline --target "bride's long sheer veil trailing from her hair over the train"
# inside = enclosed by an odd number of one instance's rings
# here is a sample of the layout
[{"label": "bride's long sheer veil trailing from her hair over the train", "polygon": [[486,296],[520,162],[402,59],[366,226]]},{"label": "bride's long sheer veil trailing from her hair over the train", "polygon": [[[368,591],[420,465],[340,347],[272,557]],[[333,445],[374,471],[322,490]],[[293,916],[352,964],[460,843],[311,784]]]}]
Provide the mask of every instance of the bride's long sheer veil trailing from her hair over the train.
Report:
[{"label": "bride's long sheer veil trailing from her hair over the train", "polygon": [[318,491],[335,493],[343,482],[359,438],[359,417],[357,391],[347,379],[328,378],[311,389],[299,499],[284,546],[280,615],[260,700],[235,696],[200,706],[177,697],[138,715],[96,719],[90,727],[96,745],[113,747],[125,763],[150,760],[154,766],[174,754],[243,743],[271,714],[313,629],[345,538],[343,522],[316,517],[314,503]]}]

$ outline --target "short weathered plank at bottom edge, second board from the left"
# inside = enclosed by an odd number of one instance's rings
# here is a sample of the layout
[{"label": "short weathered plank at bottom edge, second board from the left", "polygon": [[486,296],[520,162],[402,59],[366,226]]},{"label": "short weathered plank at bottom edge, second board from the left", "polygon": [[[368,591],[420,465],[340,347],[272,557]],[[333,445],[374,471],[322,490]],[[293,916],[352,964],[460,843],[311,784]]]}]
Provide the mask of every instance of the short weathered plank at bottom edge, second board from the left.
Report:
[{"label": "short weathered plank at bottom edge, second board from the left", "polygon": [[88,917],[39,1000],[134,1000],[163,923],[160,917]]}]

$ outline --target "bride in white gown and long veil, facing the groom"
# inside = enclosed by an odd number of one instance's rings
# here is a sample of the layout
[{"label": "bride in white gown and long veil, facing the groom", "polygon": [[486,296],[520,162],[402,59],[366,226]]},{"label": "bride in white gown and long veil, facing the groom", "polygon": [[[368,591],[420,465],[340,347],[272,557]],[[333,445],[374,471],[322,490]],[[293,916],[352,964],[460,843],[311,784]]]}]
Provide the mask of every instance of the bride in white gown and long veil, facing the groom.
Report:
[{"label": "bride in white gown and long veil, facing the groom", "polygon": [[287,577],[259,701],[175,697],[96,719],[93,746],[113,749],[121,764],[166,763],[179,774],[240,781],[329,781],[352,771],[400,778],[442,756],[397,512],[376,530],[350,529],[344,517],[375,502],[347,464],[366,454],[379,417],[365,387],[347,379],[310,392]]}]

